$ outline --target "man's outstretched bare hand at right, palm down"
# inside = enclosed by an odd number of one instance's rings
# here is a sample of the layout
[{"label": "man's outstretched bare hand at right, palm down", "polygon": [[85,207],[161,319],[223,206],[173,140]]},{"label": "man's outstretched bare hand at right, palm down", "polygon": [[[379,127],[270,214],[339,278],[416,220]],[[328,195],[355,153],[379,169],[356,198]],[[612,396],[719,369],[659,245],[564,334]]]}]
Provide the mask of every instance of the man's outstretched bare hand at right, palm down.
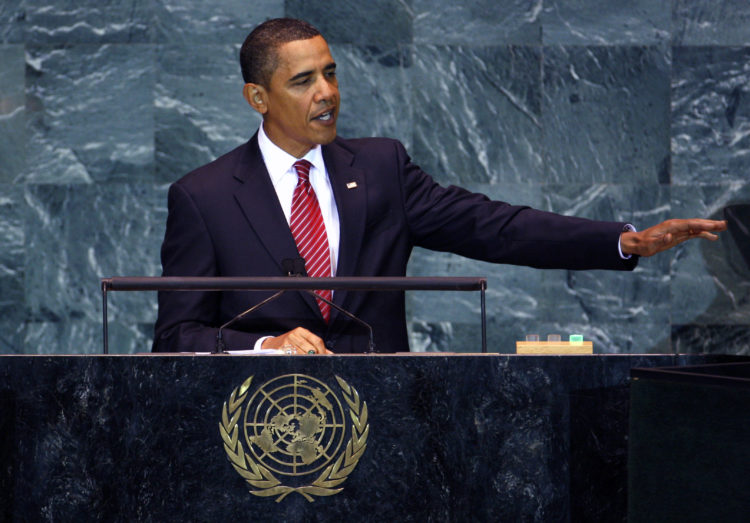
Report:
[{"label": "man's outstretched bare hand at right, palm down", "polygon": [[716,241],[715,232],[727,230],[727,222],[719,220],[667,220],[640,232],[627,231],[620,235],[623,254],[653,256],[693,238]]}]

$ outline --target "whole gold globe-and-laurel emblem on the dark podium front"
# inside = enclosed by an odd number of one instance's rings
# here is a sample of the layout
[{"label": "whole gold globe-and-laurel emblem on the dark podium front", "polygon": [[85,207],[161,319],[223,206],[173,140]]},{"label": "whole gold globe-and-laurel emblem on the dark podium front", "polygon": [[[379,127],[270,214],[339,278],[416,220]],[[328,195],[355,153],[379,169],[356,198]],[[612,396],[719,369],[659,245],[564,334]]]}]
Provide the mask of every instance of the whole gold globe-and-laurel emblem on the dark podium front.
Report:
[{"label": "whole gold globe-and-laurel emblem on the dark podium front", "polygon": [[219,423],[224,450],[250,493],[278,496],[278,503],[292,492],[308,501],[341,492],[367,446],[367,403],[338,376],[346,409],[311,376],[286,374],[254,391],[252,381],[232,391]]}]

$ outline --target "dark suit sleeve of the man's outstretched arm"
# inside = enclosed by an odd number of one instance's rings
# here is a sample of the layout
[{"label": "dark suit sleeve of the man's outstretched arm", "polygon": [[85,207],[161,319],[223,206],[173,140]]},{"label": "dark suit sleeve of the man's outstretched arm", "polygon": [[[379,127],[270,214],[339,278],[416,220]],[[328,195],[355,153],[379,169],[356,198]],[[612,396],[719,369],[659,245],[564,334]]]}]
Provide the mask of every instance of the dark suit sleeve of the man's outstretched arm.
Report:
[{"label": "dark suit sleeve of the man's outstretched arm", "polygon": [[404,212],[420,247],[479,260],[543,269],[632,270],[637,257],[618,251],[624,223],[594,221],[493,201],[443,187],[396,145]]}]

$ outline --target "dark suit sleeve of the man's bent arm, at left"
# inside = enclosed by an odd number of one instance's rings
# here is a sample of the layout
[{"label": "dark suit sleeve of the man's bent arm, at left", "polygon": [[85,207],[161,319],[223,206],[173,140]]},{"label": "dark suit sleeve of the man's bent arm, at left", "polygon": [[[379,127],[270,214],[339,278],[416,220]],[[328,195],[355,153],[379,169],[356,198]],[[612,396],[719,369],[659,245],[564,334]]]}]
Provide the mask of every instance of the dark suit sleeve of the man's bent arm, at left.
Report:
[{"label": "dark suit sleeve of the man's bent arm, at left", "polygon": [[[162,276],[217,276],[215,250],[190,194],[179,184],[169,188],[168,216],[161,248]],[[216,344],[219,292],[159,292],[154,352],[207,352]],[[252,348],[259,336],[226,329],[229,348]]]}]

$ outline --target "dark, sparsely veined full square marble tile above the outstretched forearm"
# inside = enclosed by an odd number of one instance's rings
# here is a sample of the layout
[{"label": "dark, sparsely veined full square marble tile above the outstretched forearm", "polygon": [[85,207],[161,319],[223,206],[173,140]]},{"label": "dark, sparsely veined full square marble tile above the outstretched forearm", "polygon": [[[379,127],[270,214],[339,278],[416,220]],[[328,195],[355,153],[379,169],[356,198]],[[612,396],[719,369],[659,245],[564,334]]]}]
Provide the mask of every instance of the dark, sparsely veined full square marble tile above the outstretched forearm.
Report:
[{"label": "dark, sparsely veined full square marble tile above the outstretched forearm", "polygon": [[546,178],[669,182],[669,56],[662,47],[545,47]]}]

